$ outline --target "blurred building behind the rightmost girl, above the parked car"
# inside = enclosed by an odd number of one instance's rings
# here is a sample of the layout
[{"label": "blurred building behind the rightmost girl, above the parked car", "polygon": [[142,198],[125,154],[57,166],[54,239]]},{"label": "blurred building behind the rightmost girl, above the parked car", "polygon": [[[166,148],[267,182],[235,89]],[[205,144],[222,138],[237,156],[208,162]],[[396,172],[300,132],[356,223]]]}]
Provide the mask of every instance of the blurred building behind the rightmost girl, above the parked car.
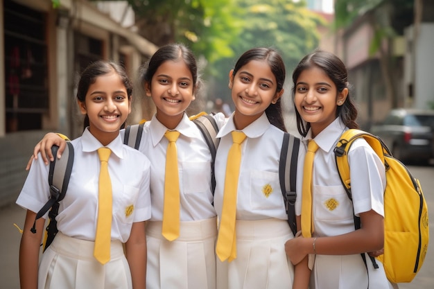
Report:
[{"label": "blurred building behind the rightmost girl, above the parked car", "polygon": [[408,15],[391,19],[396,34],[381,43],[391,55],[388,63],[382,62],[379,51],[370,53],[374,39],[370,21],[373,15],[382,15],[381,8],[367,11],[336,38],[336,51],[347,66],[351,95],[358,105],[358,123],[365,130],[383,121],[394,107],[434,109],[434,2],[415,1]]}]

